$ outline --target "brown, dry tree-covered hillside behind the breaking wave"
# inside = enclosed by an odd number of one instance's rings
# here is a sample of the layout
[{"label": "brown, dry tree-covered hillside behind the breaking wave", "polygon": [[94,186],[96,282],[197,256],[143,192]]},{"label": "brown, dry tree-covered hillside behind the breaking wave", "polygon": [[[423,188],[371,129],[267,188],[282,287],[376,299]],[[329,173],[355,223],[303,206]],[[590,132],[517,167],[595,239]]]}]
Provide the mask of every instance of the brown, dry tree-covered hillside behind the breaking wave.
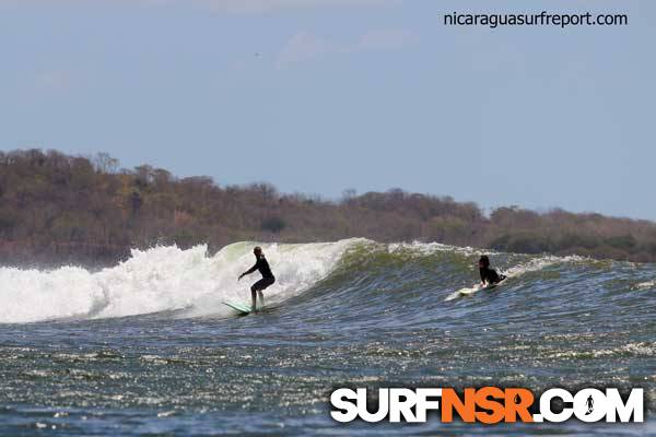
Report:
[{"label": "brown, dry tree-covered hillside behind the breaking wave", "polygon": [[155,244],[210,250],[237,240],[441,241],[513,252],[656,261],[656,223],[562,210],[500,208],[398,189],[340,201],[281,194],[269,184],[220,187],[107,154],[0,152],[0,263],[106,264]]}]

